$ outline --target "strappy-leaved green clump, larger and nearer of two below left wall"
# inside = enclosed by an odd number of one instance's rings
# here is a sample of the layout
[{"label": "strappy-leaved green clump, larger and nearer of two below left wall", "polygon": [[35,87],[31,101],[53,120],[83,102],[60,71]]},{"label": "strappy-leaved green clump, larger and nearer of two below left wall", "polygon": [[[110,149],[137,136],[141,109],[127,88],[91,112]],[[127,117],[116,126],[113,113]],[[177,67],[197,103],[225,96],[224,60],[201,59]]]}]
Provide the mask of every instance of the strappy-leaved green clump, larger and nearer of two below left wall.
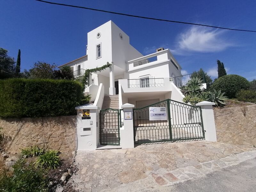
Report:
[{"label": "strappy-leaved green clump, larger and nearer of two below left wall", "polygon": [[60,157],[58,156],[58,151],[48,150],[45,154],[37,157],[36,167],[46,167],[51,169],[56,169],[60,165]]}]

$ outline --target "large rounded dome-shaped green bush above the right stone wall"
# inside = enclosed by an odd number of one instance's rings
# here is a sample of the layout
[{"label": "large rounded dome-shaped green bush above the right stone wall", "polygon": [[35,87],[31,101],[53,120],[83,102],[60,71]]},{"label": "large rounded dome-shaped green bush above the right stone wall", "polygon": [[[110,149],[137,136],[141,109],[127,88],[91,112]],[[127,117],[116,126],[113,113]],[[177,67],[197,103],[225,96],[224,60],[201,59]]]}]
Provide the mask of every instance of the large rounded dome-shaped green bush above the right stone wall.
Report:
[{"label": "large rounded dome-shaped green bush above the right stone wall", "polygon": [[246,90],[250,86],[249,81],[239,75],[225,75],[218,78],[212,88],[217,91],[224,91],[228,98],[236,97],[236,93],[241,90]]}]

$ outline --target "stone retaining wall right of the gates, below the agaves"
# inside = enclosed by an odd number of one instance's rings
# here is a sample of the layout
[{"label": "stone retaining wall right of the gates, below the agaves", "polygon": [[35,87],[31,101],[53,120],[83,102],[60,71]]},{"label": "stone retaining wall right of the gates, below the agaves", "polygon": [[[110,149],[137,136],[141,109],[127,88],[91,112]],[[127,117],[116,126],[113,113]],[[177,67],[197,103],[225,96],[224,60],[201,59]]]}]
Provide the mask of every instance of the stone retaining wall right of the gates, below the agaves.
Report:
[{"label": "stone retaining wall right of the gates, below the agaves", "polygon": [[256,145],[256,105],[214,109],[217,141]]}]

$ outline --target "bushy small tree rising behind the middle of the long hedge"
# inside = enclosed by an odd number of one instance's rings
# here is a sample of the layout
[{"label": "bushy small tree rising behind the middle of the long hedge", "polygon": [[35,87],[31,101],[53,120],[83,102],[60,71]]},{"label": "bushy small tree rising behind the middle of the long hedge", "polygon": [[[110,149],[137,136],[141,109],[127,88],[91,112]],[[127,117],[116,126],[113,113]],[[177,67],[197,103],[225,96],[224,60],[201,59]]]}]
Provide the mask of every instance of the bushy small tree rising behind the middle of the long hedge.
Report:
[{"label": "bushy small tree rising behind the middle of the long hedge", "polygon": [[29,70],[30,77],[33,79],[53,79],[54,69],[56,65],[51,65],[46,62],[38,61],[34,64],[34,67]]}]

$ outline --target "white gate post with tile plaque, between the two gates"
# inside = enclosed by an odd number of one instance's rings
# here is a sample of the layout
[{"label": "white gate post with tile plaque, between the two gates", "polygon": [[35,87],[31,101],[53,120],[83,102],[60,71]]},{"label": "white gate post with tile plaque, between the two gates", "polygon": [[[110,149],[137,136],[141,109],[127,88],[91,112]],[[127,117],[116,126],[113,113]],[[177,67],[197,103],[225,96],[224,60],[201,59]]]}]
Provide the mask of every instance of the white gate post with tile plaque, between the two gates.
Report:
[{"label": "white gate post with tile plaque, between the two gates", "polygon": [[[134,105],[125,103],[121,106],[124,110],[124,126],[120,127],[120,146],[125,148],[134,148],[133,140],[133,115]],[[121,115],[121,114],[120,114]]]}]

